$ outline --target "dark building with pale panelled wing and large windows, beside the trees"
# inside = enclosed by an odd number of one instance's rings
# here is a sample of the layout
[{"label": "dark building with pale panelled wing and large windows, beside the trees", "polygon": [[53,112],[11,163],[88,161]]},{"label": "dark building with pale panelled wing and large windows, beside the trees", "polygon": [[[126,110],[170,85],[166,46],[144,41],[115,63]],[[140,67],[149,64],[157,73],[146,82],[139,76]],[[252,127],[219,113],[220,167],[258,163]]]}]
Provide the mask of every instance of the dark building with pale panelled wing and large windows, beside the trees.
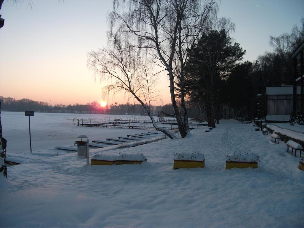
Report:
[{"label": "dark building with pale panelled wing and large windows, beside the trees", "polygon": [[291,55],[293,61],[293,85],[269,86],[267,94],[266,122],[288,122],[291,112],[304,113],[303,107],[303,50],[304,41]]}]

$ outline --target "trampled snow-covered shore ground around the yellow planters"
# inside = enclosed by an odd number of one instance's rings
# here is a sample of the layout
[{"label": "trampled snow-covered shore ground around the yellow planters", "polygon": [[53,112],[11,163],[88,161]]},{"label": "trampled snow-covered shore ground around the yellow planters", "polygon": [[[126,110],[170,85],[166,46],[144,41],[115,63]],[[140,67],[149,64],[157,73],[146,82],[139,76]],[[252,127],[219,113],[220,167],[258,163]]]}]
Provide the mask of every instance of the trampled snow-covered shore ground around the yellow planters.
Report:
[{"label": "trampled snow-covered shore ground around the yellow planters", "polygon": [[[142,153],[141,165],[87,166],[71,153],[11,166],[9,185],[1,182],[0,226],[303,227],[299,157],[249,124],[222,120],[209,133],[206,128],[184,139],[90,150],[90,159]],[[178,151],[204,154],[205,168],[173,170]],[[259,155],[259,167],[226,170],[231,152]]]}]

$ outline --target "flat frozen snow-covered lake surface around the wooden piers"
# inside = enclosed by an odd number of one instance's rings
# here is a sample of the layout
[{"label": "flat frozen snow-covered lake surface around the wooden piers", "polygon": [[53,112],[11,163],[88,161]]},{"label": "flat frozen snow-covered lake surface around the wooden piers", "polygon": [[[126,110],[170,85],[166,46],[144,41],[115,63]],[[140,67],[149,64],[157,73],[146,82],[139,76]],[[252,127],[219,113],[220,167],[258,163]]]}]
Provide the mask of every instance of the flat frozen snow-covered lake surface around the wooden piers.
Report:
[{"label": "flat frozen snow-covered lake surface around the wooden piers", "polygon": [[[145,133],[151,130],[81,127],[73,125],[73,118],[142,118],[147,116],[97,115],[77,113],[42,113],[35,112],[30,117],[32,151],[54,148],[56,146],[73,146],[79,135],[88,136],[92,140],[105,140],[127,134]],[[1,112],[3,137],[7,140],[7,153],[28,153],[29,119],[24,112]]]}]

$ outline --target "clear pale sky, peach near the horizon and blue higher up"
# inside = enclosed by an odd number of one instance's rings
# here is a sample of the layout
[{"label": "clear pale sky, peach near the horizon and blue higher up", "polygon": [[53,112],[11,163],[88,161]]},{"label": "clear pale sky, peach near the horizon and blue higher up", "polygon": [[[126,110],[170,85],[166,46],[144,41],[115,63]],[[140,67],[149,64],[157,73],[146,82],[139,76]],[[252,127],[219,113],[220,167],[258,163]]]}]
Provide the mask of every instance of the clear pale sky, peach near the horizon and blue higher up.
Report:
[{"label": "clear pale sky, peach near the horizon and blue higher up", "polygon": [[[0,96],[55,104],[86,104],[102,99],[126,103],[126,95],[103,98],[99,79],[89,71],[87,53],[106,47],[106,16],[112,1],[5,0],[0,29]],[[304,17],[303,0],[222,0],[220,17],[236,25],[231,36],[254,61],[271,51],[269,36],[290,33]],[[161,77],[163,103],[170,103],[169,81]],[[133,102],[133,99],[130,100]]]}]

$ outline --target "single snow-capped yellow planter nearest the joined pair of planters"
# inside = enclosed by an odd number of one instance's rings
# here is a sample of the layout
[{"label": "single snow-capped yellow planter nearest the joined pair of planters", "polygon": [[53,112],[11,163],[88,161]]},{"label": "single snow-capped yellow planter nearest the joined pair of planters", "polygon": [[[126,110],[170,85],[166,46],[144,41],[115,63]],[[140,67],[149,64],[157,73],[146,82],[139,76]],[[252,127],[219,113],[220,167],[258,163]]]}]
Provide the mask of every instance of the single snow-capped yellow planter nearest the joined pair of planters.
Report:
[{"label": "single snow-capped yellow planter nearest the joined pair of planters", "polygon": [[177,152],[174,155],[173,168],[204,168],[205,157],[199,152]]}]

